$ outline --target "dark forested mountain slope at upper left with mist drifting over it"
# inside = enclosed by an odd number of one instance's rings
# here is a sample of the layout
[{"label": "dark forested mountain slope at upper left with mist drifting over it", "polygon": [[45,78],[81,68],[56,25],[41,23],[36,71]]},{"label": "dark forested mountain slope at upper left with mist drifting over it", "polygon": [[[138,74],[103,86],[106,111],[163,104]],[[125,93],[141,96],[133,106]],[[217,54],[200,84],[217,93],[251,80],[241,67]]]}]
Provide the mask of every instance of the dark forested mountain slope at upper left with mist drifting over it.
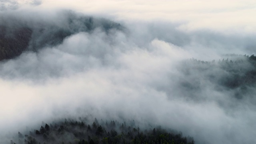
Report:
[{"label": "dark forested mountain slope at upper left with mist drifting over it", "polygon": [[83,16],[73,11],[59,14],[60,24],[43,19],[17,18],[12,15],[0,16],[0,60],[19,56],[24,50],[37,51],[47,46],[56,46],[78,32],[92,32],[99,28],[105,32],[123,27],[104,18]]}]

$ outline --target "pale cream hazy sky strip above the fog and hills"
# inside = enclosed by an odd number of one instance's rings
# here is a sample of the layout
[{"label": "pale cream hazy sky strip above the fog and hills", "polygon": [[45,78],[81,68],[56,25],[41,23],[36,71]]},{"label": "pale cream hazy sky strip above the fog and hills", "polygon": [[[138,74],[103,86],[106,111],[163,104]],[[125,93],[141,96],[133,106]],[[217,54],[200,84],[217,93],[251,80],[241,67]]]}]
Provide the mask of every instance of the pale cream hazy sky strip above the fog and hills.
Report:
[{"label": "pale cream hazy sky strip above the fog and hills", "polygon": [[45,8],[74,8],[80,12],[114,16],[119,20],[166,20],[192,31],[255,33],[255,0],[45,0]]}]

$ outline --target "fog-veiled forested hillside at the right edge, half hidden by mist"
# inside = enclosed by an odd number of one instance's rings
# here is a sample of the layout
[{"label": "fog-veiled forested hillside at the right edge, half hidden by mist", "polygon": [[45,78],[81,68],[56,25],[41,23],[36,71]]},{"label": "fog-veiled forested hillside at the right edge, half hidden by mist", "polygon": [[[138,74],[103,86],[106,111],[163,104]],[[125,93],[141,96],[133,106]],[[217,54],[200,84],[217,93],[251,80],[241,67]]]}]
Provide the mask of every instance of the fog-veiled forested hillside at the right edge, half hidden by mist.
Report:
[{"label": "fog-veiled forested hillside at the right edge, half hidden by mist", "polygon": [[[251,90],[256,86],[256,56],[228,54],[222,60],[202,61],[196,59],[184,60],[179,67],[184,78],[178,81],[178,86],[184,92],[190,93],[190,98],[203,99],[198,94],[206,85],[211,85],[218,92],[236,99],[252,96]],[[186,95],[185,95],[186,96]]]}]

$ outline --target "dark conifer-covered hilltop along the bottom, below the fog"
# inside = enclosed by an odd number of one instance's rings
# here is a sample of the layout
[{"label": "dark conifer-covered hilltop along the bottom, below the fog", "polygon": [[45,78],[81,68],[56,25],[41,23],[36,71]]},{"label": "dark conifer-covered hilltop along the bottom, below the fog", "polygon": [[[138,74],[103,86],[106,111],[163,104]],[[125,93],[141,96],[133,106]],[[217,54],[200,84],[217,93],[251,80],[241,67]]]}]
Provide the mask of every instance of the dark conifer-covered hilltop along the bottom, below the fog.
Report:
[{"label": "dark conifer-covered hilltop along the bottom, below the fog", "polygon": [[194,144],[192,137],[158,126],[140,128],[134,122],[103,121],[88,123],[64,120],[45,124],[28,134],[18,132],[11,144]]}]

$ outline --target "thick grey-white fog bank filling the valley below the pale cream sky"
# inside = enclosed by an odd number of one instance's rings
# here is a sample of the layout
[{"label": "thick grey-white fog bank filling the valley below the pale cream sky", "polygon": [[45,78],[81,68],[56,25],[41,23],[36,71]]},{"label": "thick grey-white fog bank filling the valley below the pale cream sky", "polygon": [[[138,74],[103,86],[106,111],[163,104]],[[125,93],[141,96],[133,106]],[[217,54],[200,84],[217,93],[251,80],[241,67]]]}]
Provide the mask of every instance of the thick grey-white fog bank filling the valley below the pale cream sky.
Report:
[{"label": "thick grey-white fog bank filling the valley below the pale cream sky", "polygon": [[[3,142],[26,126],[88,114],[176,129],[197,144],[256,142],[254,85],[229,84],[232,68],[243,76],[253,66],[243,56],[225,55],[255,54],[255,34],[10,6],[0,13],[0,25],[10,34],[22,27],[32,34],[22,54],[0,61]],[[56,35],[61,30],[66,33]],[[223,58],[244,63],[218,62]]]}]

